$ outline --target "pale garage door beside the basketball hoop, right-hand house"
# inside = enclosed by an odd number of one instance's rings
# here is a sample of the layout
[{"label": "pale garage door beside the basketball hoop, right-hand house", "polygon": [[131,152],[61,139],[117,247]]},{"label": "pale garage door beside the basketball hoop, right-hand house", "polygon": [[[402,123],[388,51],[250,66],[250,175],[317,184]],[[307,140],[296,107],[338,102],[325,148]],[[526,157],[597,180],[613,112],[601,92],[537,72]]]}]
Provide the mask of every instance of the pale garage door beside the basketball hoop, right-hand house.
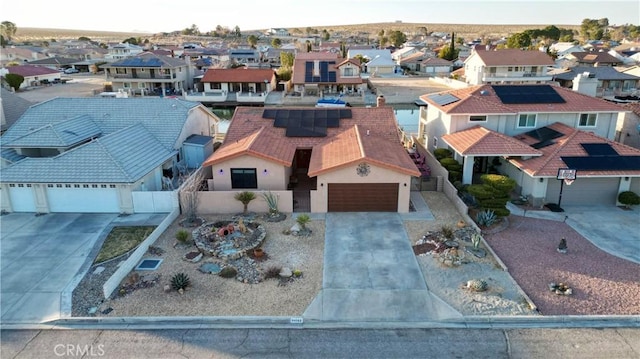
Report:
[{"label": "pale garage door beside the basketball hoop, right-hand house", "polygon": [[[619,178],[578,178],[571,186],[564,185],[561,205],[571,206],[615,206]],[[547,187],[547,202],[558,203],[560,181],[551,179]]]}]

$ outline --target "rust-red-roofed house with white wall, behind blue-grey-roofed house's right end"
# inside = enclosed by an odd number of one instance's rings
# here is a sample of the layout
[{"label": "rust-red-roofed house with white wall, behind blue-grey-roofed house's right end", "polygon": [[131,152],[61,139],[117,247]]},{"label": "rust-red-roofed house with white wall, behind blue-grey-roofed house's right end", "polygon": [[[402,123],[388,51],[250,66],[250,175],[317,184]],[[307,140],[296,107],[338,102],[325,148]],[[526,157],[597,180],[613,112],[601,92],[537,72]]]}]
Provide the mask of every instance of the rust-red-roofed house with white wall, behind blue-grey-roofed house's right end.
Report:
[{"label": "rust-red-roofed house with white wall, behind blue-grey-roofed house's right end", "polygon": [[276,74],[270,69],[208,69],[200,84],[200,93],[186,95],[187,100],[264,104],[276,87]]}]

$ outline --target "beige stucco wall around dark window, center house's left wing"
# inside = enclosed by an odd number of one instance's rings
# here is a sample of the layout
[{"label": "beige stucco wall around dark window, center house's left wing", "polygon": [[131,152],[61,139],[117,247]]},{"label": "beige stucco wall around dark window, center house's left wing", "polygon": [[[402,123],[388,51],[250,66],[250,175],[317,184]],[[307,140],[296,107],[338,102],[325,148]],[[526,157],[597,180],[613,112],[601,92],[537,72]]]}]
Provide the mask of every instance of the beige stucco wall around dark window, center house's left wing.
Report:
[{"label": "beige stucco wall around dark window, center house's left wing", "polygon": [[[215,191],[231,191],[232,168],[255,168],[258,179],[257,190],[286,190],[291,169],[282,164],[248,155],[240,156],[212,166]],[[267,170],[265,173],[264,170]],[[222,173],[220,173],[222,170]]]}]

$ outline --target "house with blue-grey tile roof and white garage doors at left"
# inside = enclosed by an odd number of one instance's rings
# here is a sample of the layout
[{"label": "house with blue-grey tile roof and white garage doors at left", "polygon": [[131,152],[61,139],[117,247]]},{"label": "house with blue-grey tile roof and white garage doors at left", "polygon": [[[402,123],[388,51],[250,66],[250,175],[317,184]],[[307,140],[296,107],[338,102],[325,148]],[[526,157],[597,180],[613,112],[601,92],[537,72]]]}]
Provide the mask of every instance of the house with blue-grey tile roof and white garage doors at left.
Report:
[{"label": "house with blue-grey tile roof and white garage doors at left", "polygon": [[1,209],[134,213],[153,202],[136,202],[135,192],[179,184],[189,163],[184,142],[212,137],[216,121],[202,104],[178,99],[55,98],[31,106],[1,138]]}]

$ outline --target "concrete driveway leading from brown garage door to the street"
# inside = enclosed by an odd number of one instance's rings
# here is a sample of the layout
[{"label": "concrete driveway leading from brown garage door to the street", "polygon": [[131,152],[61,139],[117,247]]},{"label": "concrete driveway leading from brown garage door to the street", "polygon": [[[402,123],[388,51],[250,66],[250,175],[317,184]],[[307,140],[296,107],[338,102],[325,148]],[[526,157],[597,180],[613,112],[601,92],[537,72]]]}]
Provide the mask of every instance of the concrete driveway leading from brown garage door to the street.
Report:
[{"label": "concrete driveway leading from brown garage door to the street", "polygon": [[323,321],[460,317],[427,289],[400,215],[328,213],[322,291],[304,313]]}]

